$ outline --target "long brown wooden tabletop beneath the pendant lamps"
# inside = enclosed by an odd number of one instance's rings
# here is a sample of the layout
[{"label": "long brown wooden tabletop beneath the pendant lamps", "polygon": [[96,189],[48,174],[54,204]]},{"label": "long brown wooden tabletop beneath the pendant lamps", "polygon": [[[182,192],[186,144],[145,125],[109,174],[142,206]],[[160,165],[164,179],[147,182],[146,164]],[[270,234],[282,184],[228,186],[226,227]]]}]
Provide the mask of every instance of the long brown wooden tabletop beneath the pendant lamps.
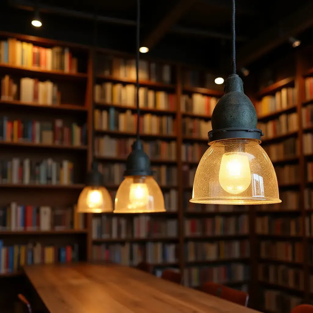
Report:
[{"label": "long brown wooden tabletop beneath the pendant lamps", "polygon": [[25,266],[50,313],[255,313],[120,265]]}]

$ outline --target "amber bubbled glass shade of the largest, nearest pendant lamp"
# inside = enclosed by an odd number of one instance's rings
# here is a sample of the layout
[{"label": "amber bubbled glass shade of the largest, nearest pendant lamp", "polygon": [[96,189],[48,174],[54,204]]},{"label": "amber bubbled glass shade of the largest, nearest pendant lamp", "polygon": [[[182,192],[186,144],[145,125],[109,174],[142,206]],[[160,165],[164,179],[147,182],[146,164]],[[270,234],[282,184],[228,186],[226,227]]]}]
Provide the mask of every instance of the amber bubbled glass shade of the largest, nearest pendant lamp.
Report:
[{"label": "amber bubbled glass shade of the largest, nearest pendant lamp", "polygon": [[277,177],[255,139],[213,141],[202,156],[193,182],[193,203],[280,203]]}]

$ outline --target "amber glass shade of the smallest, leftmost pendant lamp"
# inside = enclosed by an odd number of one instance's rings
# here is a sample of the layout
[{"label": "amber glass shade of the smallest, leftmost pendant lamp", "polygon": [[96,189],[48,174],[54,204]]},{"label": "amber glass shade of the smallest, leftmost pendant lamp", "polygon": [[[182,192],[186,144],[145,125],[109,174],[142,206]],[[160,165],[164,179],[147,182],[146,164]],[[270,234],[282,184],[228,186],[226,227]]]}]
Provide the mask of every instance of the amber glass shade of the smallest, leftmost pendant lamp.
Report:
[{"label": "amber glass shade of the smallest, leftmost pendant lamp", "polygon": [[86,186],[78,198],[77,211],[79,213],[112,212],[113,203],[110,193],[102,186]]}]

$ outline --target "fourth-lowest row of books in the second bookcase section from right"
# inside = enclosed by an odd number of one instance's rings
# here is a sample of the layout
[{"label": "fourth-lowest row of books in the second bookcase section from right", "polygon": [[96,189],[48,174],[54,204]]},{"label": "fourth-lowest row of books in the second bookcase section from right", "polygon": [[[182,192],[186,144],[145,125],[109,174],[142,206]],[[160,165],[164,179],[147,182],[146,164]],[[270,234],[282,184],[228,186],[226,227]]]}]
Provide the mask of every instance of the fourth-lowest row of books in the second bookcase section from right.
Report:
[{"label": "fourth-lowest row of books in the second bookcase section from right", "polygon": [[271,216],[259,216],[256,218],[256,233],[262,235],[290,235],[300,236],[303,234],[302,219],[298,218],[275,218]]}]

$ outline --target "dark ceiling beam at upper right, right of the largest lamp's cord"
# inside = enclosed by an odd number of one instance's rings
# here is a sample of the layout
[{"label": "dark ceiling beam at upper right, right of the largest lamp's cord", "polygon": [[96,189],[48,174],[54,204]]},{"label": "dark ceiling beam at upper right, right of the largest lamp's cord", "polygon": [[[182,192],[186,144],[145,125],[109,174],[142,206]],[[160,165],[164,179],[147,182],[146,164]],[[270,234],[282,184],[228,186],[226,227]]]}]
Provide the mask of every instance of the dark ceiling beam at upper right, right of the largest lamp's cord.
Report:
[{"label": "dark ceiling beam at upper right, right of the largest lamp's cord", "polygon": [[242,67],[313,26],[313,1],[306,3],[295,13],[282,19],[279,25],[270,28],[260,36],[250,40],[237,54],[237,64]]}]

